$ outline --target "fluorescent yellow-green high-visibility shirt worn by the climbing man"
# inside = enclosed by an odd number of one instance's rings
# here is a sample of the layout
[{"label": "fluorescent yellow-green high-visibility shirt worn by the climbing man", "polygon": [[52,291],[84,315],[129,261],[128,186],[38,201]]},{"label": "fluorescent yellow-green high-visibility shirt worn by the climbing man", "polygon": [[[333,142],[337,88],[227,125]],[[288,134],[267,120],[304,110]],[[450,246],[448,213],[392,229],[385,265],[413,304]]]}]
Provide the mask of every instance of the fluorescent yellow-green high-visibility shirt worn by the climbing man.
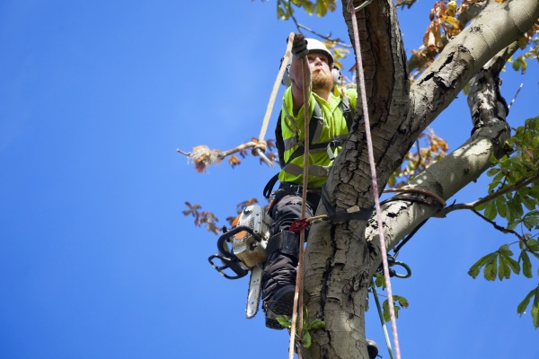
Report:
[{"label": "fluorescent yellow-green high-visibility shirt worn by the climbing man", "polygon": [[[349,108],[355,109],[358,92],[350,89],[344,96],[348,98]],[[342,113],[343,95],[339,90],[331,92],[330,101],[323,100],[316,93],[311,92],[309,98],[309,168],[307,188],[316,189],[322,187],[328,178],[334,158],[340,153],[340,143],[349,134],[346,118]],[[345,99],[346,101],[346,99]],[[314,108],[318,104],[318,116],[313,117]],[[297,185],[303,184],[304,153],[296,151],[304,144],[304,117],[305,108],[294,116],[292,90],[288,88],[283,97],[281,109],[281,131],[285,144],[284,161],[287,163],[278,173],[278,180],[291,182]],[[300,153],[300,154],[298,154]]]}]

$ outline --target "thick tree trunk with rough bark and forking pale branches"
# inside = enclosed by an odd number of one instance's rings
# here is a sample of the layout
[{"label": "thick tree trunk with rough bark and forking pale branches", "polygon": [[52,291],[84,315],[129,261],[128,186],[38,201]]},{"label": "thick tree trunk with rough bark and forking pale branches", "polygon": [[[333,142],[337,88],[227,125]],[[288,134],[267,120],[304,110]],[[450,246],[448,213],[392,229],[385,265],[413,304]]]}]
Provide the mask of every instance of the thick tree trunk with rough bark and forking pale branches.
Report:
[{"label": "thick tree trunk with rough bark and forking pale branches", "polygon": [[[347,4],[343,1],[343,14],[353,43]],[[376,0],[357,15],[378,188],[384,188],[425,127],[490,58],[531,28],[539,18],[539,2],[490,1],[411,86],[393,2]],[[482,74],[474,80],[490,83],[495,78],[487,77]],[[496,86],[491,90],[494,92],[490,95],[485,94],[484,87],[474,90],[482,94],[478,100],[472,100],[473,136],[442,162],[420,174],[411,187],[426,188],[448,198],[488,168],[490,153],[499,153],[499,144],[508,136],[503,101],[499,100]],[[490,107],[485,111],[482,103],[487,102]],[[327,183],[331,202],[338,209],[374,206],[364,127],[363,120],[353,126]],[[385,206],[388,247],[436,212],[433,206],[409,201]],[[325,208],[320,206],[318,213],[326,213]],[[312,228],[305,252],[305,304],[311,320],[324,320],[326,329],[312,333],[313,346],[305,351],[305,356],[367,358],[367,286],[381,260],[374,227],[363,221],[350,221],[319,223]]]}]

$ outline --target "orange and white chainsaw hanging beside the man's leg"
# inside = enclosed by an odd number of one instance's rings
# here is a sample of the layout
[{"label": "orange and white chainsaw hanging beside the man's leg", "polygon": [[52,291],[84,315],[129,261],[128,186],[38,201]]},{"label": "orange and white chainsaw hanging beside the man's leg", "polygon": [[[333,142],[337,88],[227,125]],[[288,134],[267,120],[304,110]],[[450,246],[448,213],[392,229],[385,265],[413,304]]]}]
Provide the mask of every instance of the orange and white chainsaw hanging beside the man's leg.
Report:
[{"label": "orange and white chainsaw hanging beside the man's leg", "polygon": [[[259,309],[270,225],[270,215],[261,206],[246,206],[232,229],[223,227],[223,234],[217,240],[219,253],[208,258],[209,264],[226,279],[239,279],[251,272],[245,309],[247,319],[252,319]],[[221,265],[214,262],[216,259]]]}]

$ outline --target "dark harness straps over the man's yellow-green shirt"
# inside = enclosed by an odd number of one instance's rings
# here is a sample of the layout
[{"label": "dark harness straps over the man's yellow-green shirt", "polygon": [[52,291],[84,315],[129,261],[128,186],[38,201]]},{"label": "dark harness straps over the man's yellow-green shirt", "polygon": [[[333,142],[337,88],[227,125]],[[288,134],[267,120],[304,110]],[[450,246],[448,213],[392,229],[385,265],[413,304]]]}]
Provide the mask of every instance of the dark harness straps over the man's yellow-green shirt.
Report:
[{"label": "dark harness straps over the man's yellow-green shirt", "polygon": [[[350,106],[349,98],[345,95],[342,96],[341,101],[339,102],[338,108],[340,109],[340,112],[342,112],[342,116],[346,120],[346,127],[350,131],[350,127],[352,126],[352,122],[354,121],[354,109]],[[331,151],[331,146],[339,146],[342,144],[343,140],[341,138],[335,138],[329,142],[323,142],[320,144],[313,144],[313,138],[316,134],[316,131],[318,130],[318,127],[323,124],[323,114],[322,109],[320,108],[320,105],[317,101],[314,101],[314,109],[313,109],[313,116],[311,116],[311,119],[309,120],[309,151],[316,151],[323,148],[328,149],[328,154],[330,155],[331,160],[333,160],[333,153]],[[281,114],[278,115],[277,120],[277,127],[275,127],[275,142],[278,149],[278,162],[281,166],[281,171],[283,171],[287,165],[295,160],[297,157],[302,156],[305,153],[305,146],[301,144],[299,141],[299,135],[296,132],[296,142],[298,143],[298,146],[296,148],[296,151],[294,151],[292,154],[290,154],[290,157],[288,157],[288,161],[285,161],[285,141],[283,139],[283,133],[282,133],[282,126],[281,126]],[[264,197],[270,198],[271,192],[273,192],[273,188],[275,187],[275,184],[278,181],[278,173],[275,174],[269,181],[268,184],[266,184],[266,187],[264,187]]]}]

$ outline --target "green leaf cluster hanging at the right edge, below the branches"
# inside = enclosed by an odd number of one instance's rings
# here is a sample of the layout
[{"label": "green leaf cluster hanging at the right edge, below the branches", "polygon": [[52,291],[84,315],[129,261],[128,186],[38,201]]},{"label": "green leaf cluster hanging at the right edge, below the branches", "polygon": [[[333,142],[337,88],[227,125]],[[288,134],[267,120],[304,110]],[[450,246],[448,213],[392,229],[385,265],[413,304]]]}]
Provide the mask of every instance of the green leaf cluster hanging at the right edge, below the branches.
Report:
[{"label": "green leaf cluster hanging at the right edge, below the branches", "polygon": [[[501,281],[508,279],[511,273],[532,278],[533,268],[530,254],[539,258],[539,117],[528,118],[524,126],[515,130],[515,135],[505,144],[507,153],[497,160],[490,158],[493,167],[487,171],[492,178],[488,188],[489,196],[482,198],[478,211],[483,211],[484,218],[493,223],[497,217],[507,221],[502,232],[517,235],[519,241],[518,257],[504,244],[489,253],[470,267],[468,274],[476,278],[481,271],[486,280]],[[515,232],[520,226],[521,233]],[[498,227],[498,226],[497,226]],[[539,266],[537,268],[539,276]],[[535,328],[539,328],[539,289],[534,289],[518,307],[522,314],[532,302],[532,319]]]}]

